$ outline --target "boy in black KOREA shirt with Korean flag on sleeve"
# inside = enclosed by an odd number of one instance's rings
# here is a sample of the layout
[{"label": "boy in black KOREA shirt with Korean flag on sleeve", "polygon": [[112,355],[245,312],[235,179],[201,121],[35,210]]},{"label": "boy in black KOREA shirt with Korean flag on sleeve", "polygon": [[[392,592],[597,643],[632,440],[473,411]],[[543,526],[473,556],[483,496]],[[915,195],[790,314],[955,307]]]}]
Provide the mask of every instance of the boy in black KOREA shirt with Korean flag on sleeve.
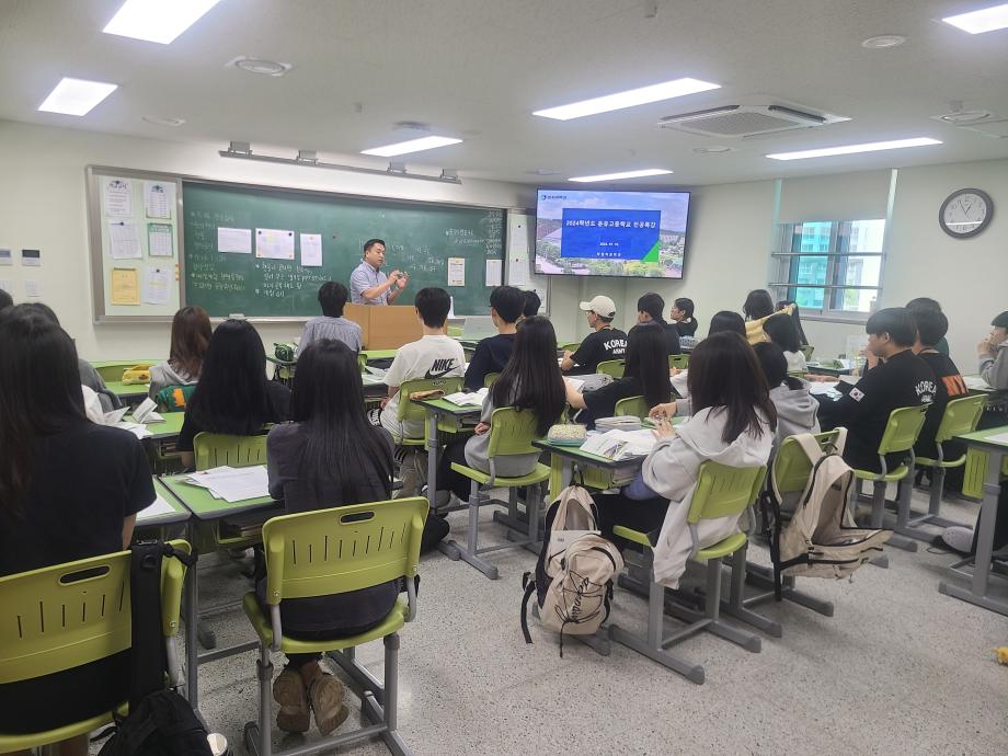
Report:
[{"label": "boy in black KOREA shirt with Korean flag on sleeve", "polygon": [[[938,390],[935,374],[914,354],[917,327],[910,311],[903,307],[879,310],[864,324],[868,351],[881,362],[854,386],[840,383],[846,393],[833,401],[820,402],[820,425],[824,431],[847,428],[844,459],[850,467],[881,472],[879,444],[889,424],[890,413],[901,406],[930,404]],[[890,455],[890,470],[903,461],[902,454]]]}]

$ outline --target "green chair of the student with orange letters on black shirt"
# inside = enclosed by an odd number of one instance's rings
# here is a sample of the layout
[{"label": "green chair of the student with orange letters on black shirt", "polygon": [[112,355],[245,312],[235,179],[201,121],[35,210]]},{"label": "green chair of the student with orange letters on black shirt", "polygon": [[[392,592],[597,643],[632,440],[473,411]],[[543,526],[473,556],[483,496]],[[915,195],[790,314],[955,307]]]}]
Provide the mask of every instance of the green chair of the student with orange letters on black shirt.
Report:
[{"label": "green chair of the student with orange letters on black shirt", "polygon": [[[984,403],[986,397],[981,393],[953,399],[946,405],[944,414],[935,433],[935,445],[938,448],[937,459],[930,457],[917,457],[916,463],[923,467],[931,468],[931,491],[928,499],[928,513],[926,515],[912,516],[914,513],[909,508],[909,497],[905,502],[900,501],[900,509],[896,514],[895,530],[904,536],[917,538],[918,540],[930,541],[933,534],[928,534],[917,528],[920,525],[936,525],[939,527],[949,527],[952,525],[962,525],[940,516],[941,493],[944,488],[946,470],[954,467],[962,467],[966,463],[966,455],[963,454],[958,459],[946,459],[943,444],[955,436],[964,433],[973,433],[976,429],[980,417],[984,413]],[[905,506],[904,506],[905,504]]]}]

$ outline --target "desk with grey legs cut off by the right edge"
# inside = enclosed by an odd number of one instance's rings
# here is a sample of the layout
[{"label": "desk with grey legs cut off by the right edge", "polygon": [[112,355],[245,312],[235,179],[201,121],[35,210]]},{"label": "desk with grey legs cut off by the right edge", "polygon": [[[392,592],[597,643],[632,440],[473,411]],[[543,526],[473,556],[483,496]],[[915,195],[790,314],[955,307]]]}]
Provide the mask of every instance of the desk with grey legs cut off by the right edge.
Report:
[{"label": "desk with grey legs cut off by the right edge", "polygon": [[1006,457],[1008,457],[1008,440],[993,438],[993,436],[999,435],[1008,436],[1008,425],[955,436],[955,440],[962,442],[971,450],[976,449],[987,455],[987,481],[984,483],[984,503],[976,523],[978,528],[976,555],[975,558],[955,562],[948,569],[949,579],[957,576],[969,577],[970,587],[966,588],[958,583],[941,581],[938,584],[938,591],[946,596],[960,598],[970,604],[1008,616],[1008,602],[1004,598],[996,598],[988,593],[990,573],[994,571],[1003,574],[998,569],[992,570],[990,561],[994,552],[994,524],[997,518],[997,500],[1001,491],[1001,466]]}]

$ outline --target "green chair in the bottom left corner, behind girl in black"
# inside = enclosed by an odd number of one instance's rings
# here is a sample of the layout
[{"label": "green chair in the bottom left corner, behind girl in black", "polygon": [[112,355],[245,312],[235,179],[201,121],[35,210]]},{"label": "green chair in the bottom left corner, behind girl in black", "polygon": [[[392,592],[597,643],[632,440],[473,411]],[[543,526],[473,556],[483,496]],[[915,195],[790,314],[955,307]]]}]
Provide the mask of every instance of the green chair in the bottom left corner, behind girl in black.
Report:
[{"label": "green chair in the bottom left corner, behind girl in black", "polygon": [[[190,552],[183,540],[171,541]],[[0,577],[0,685],[51,675],[130,648],[129,551]],[[185,565],[161,566],[161,631],[172,685],[181,683],[174,637],[179,631]],[[126,701],[116,710],[126,713]],[[112,723],[107,712],[56,730],[0,732],[0,753],[41,748]]]}]

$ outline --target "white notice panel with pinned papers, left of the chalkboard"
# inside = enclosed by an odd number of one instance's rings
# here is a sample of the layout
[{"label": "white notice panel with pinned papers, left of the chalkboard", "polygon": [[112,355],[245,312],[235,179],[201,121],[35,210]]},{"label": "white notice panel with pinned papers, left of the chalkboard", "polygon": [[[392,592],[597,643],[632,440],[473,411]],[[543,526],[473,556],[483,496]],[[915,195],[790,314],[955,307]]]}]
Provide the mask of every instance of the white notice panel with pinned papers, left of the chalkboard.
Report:
[{"label": "white notice panel with pinned papers, left of the chalkboard", "polygon": [[182,301],[175,176],[89,168],[94,317],[169,320]]}]

